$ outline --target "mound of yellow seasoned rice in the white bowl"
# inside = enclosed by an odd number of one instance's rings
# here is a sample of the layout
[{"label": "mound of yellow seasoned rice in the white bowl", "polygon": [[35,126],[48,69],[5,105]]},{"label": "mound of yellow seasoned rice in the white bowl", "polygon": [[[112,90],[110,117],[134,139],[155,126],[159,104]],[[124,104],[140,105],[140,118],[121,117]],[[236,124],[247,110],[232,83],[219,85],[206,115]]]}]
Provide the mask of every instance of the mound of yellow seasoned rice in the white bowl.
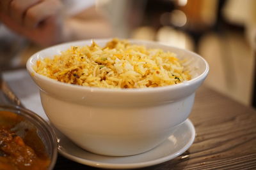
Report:
[{"label": "mound of yellow seasoned rice in the white bowl", "polygon": [[162,87],[191,79],[175,53],[119,39],[103,48],[95,42],[71,46],[53,59],[37,60],[33,68],[54,80],[86,87]]}]

